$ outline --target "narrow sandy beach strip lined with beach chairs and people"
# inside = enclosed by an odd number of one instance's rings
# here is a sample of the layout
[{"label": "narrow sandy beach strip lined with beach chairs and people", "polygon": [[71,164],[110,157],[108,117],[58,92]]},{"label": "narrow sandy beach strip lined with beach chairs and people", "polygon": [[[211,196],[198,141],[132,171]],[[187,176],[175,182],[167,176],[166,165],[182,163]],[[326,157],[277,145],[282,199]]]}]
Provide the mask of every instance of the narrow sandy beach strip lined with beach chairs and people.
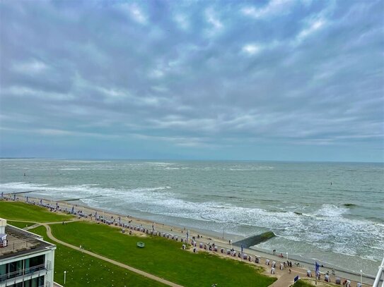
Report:
[{"label": "narrow sandy beach strip lined with beach chairs and people", "polygon": [[[23,195],[18,195],[17,196],[18,201],[21,202],[26,202],[27,197]],[[6,197],[7,200],[13,200],[13,197]],[[243,260],[246,262],[249,262],[248,259],[241,259],[239,258],[238,252],[240,252],[240,248],[237,246],[231,245],[229,240],[233,240],[233,238],[226,238],[223,236],[218,236],[218,234],[206,234],[202,233],[201,231],[196,231],[192,229],[188,229],[187,226],[185,227],[180,227],[180,226],[169,226],[167,224],[163,223],[158,223],[158,222],[151,222],[147,221],[144,219],[139,219],[136,217],[129,216],[129,214],[117,214],[113,212],[109,212],[103,209],[94,209],[90,207],[86,207],[83,204],[79,204],[78,201],[71,201],[71,202],[65,202],[65,201],[52,201],[52,200],[46,200],[46,199],[41,199],[37,197],[28,197],[28,202],[30,204],[40,204],[40,200],[42,204],[50,204],[52,207],[52,212],[56,212],[56,204],[58,204],[58,210],[57,212],[71,212],[72,208],[74,209],[75,213],[81,212],[82,214],[86,214],[87,217],[85,216],[78,216],[80,219],[87,220],[87,221],[95,221],[95,214],[97,216],[103,216],[103,219],[106,219],[107,221],[112,222],[110,224],[111,226],[114,226],[115,228],[122,228],[119,225],[119,222],[121,224],[129,225],[129,226],[134,226],[136,227],[137,230],[132,230],[133,233],[136,233],[137,235],[143,235],[145,233],[139,231],[139,228],[145,228],[146,230],[151,231],[153,228],[161,232],[162,234],[169,234],[170,237],[172,236],[177,236],[178,240],[180,238],[183,238],[183,241],[187,238],[187,231],[189,230],[189,241],[188,243],[191,243],[192,238],[195,238],[194,241],[196,243],[196,248],[197,252],[212,252],[215,253],[218,256],[222,257],[230,257],[232,259],[237,259],[237,260]],[[225,236],[225,235],[224,235]],[[233,241],[234,242],[234,241]],[[208,248],[207,250],[204,250],[204,248],[199,248],[199,243],[202,243],[203,246],[209,246],[211,244],[215,244],[216,247],[218,248],[218,251],[209,251]],[[190,251],[192,252],[192,248],[190,248]],[[221,253],[221,248],[224,249],[224,252]],[[237,255],[235,257],[231,255],[226,254],[226,250],[231,250],[234,249]],[[283,270],[281,270],[280,263],[284,263],[287,261],[286,255],[284,257],[279,257],[277,255],[280,254],[279,250],[276,251],[276,255],[269,254],[267,252],[261,252],[260,250],[253,250],[251,248],[244,248],[243,253],[249,255],[251,257],[251,262],[250,264],[255,264],[256,266],[259,267],[265,267],[264,268],[264,274],[267,274],[269,276],[275,276],[279,280],[276,281],[272,286],[289,286],[290,283],[293,283],[293,279],[296,276],[299,276],[300,278],[306,278],[306,272],[308,269],[312,271],[312,274],[315,272],[313,271],[314,269],[314,264],[311,266],[307,262],[303,262],[300,260],[293,260],[288,258],[289,261],[292,262],[292,267],[284,267]],[[260,263],[257,264],[255,263],[255,257],[260,257]],[[267,259],[269,260],[269,265],[266,265]],[[271,274],[271,265],[272,262],[276,262],[276,268],[275,268],[275,274]],[[291,269],[291,272],[289,272],[289,269]],[[339,277],[342,281],[344,279],[348,279],[352,281],[351,286],[356,286],[356,282],[360,281],[360,274],[353,274],[349,271],[346,270],[340,270],[334,268],[334,275],[332,275],[332,268],[327,268],[327,267],[322,267],[320,269],[320,272],[322,274],[320,281],[318,281],[318,285],[320,285],[320,282],[324,282],[324,274],[329,272],[330,274],[330,279],[331,283],[335,282],[336,277]],[[314,275],[313,275],[314,276]],[[372,277],[367,277],[363,276],[363,286],[371,286],[373,284],[374,279]]]}]

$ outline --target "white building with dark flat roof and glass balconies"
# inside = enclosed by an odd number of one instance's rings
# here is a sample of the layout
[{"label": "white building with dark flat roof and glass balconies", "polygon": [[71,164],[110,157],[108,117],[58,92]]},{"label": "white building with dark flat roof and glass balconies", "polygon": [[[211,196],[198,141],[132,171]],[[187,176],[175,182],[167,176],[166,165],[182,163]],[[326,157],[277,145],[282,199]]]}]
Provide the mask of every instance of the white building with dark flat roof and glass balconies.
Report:
[{"label": "white building with dark flat roof and glass balconies", "polygon": [[0,287],[53,287],[55,249],[0,219]]}]

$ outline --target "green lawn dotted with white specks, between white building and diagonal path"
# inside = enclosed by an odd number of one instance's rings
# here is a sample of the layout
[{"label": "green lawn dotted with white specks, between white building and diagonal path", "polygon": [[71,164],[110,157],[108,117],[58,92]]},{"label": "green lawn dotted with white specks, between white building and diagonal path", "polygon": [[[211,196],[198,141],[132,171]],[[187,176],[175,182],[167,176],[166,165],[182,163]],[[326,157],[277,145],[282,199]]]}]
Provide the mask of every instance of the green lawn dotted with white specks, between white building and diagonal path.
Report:
[{"label": "green lawn dotted with white specks, between white building and diagonal path", "polygon": [[[30,231],[44,236],[45,240],[52,242],[47,238],[44,226]],[[64,284],[64,271],[67,271],[66,287],[165,286],[163,283],[147,279],[91,255],[86,255],[64,245],[54,244],[57,245],[54,256],[54,281]]]}]

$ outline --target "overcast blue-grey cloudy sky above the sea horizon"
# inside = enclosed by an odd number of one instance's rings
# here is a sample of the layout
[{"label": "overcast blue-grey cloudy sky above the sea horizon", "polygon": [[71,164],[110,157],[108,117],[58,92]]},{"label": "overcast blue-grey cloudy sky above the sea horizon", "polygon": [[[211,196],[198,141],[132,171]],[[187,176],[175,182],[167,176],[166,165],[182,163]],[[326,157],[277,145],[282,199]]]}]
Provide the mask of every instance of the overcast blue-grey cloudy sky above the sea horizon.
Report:
[{"label": "overcast blue-grey cloudy sky above the sea horizon", "polygon": [[0,156],[384,161],[383,1],[0,1]]}]

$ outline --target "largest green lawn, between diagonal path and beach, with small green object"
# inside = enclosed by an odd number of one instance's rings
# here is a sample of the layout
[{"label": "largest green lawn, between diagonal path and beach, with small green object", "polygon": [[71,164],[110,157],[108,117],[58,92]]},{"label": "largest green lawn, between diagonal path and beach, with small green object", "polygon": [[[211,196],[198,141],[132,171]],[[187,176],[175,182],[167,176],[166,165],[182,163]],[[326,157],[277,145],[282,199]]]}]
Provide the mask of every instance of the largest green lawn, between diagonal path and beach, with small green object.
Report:
[{"label": "largest green lawn, between diagonal path and beach, with small green object", "polygon": [[[182,243],[157,236],[138,237],[119,229],[90,222],[54,224],[56,238],[110,257],[137,269],[156,274],[183,286],[269,286],[276,279],[260,274],[250,264],[223,259],[207,252],[194,254],[181,249]],[[137,248],[142,241],[145,248]]]}]

